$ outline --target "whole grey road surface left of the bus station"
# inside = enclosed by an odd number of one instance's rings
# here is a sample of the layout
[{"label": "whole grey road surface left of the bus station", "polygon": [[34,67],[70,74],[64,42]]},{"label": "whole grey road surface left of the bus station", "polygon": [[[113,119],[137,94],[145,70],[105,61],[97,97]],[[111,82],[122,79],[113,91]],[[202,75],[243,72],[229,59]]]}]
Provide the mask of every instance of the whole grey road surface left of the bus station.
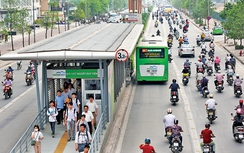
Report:
[{"label": "whole grey road surface left of the bus station", "polygon": [[[0,152],[10,152],[30,123],[35,119],[38,112],[35,82],[31,86],[27,86],[25,82],[24,72],[29,62],[23,61],[22,63],[21,70],[16,70],[16,66],[12,65],[15,69],[13,81],[14,94],[7,100],[2,95],[0,97],[0,122],[2,123],[0,125]],[[0,75],[3,76],[4,68],[0,70]],[[39,80],[41,80],[41,67],[38,70]],[[12,105],[10,106],[10,104]],[[6,106],[9,107],[5,109]]]}]

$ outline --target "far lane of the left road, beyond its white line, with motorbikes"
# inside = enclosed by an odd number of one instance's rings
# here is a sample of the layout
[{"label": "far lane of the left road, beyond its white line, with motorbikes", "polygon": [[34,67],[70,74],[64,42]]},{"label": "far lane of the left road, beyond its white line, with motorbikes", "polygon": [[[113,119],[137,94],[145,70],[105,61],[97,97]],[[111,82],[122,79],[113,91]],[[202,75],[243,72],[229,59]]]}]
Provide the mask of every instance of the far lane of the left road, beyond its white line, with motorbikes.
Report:
[{"label": "far lane of the left road, beyond its white line, with motorbikes", "polygon": [[[29,65],[29,61],[22,61],[22,69],[21,70],[16,70],[14,69],[14,81],[13,81],[13,95],[9,99],[5,99],[2,94],[0,94],[0,108],[4,107],[6,104],[14,100],[16,97],[18,97],[20,94],[25,92],[27,89],[35,85],[35,82],[31,86],[27,86],[25,82],[25,74],[24,72],[27,70]],[[14,67],[14,65],[12,65]],[[7,67],[6,67],[7,68]],[[5,68],[5,69],[6,69]],[[4,70],[0,71],[0,75],[3,76],[5,74]],[[39,80],[42,78],[42,72],[41,72],[41,65],[38,65],[38,77]],[[4,79],[4,77],[2,77]],[[2,89],[4,86],[2,86]],[[1,93],[3,93],[3,90],[1,90]]]}]

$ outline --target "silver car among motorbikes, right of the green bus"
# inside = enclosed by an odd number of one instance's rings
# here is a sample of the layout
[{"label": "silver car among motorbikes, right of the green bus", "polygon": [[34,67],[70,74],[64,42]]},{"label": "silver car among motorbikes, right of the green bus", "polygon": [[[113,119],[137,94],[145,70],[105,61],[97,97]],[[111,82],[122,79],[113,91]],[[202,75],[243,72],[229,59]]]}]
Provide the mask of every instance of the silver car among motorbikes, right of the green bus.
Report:
[{"label": "silver car among motorbikes, right of the green bus", "polygon": [[181,57],[184,55],[195,57],[195,47],[192,46],[189,42],[184,42],[179,48],[178,56]]}]

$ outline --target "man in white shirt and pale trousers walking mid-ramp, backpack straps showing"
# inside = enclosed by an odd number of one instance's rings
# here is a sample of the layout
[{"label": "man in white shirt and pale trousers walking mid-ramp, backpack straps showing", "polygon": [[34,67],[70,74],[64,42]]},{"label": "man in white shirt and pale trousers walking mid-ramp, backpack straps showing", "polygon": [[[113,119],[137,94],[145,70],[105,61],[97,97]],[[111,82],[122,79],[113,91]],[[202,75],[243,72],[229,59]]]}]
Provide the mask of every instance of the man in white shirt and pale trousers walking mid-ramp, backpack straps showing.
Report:
[{"label": "man in white shirt and pale trousers walking mid-ramp, backpack straps showing", "polygon": [[[67,125],[68,141],[75,140],[75,123],[77,121],[76,110],[73,108],[73,103],[68,104],[67,111],[65,113],[65,124]],[[71,134],[72,132],[72,134]]]}]

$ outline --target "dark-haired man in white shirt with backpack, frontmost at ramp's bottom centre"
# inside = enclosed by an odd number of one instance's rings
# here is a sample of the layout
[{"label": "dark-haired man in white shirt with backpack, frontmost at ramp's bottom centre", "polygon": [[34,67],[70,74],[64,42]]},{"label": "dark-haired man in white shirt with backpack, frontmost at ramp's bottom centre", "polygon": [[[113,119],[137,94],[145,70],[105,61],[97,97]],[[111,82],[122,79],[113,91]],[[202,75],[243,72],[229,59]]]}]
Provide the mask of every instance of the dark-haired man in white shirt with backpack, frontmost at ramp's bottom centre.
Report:
[{"label": "dark-haired man in white shirt with backpack, frontmost at ramp's bottom centre", "polygon": [[81,124],[80,130],[75,135],[75,150],[79,153],[84,151],[86,145],[91,143],[92,137],[89,131],[86,130],[86,125]]}]

